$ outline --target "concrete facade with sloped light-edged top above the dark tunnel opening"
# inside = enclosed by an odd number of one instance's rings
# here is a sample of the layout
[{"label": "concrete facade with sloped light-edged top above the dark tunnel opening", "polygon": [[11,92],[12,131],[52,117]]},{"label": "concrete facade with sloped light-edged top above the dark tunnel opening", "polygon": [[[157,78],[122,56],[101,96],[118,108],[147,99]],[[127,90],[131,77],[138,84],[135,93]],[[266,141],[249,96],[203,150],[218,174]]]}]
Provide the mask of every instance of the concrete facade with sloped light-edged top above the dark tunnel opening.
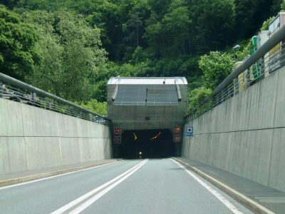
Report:
[{"label": "concrete facade with sloped light-edged top above the dark tunnel opening", "polygon": [[108,81],[108,117],[122,130],[170,129],[183,124],[185,77],[125,78]]}]

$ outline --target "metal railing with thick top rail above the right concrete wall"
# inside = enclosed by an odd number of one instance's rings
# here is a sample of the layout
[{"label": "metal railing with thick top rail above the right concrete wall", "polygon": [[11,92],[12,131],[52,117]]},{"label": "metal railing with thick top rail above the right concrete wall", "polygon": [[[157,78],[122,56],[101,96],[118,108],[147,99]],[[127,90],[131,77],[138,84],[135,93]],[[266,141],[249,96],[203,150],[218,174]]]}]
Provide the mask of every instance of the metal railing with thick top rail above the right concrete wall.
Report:
[{"label": "metal railing with thick top rail above the right concrete wall", "polygon": [[250,86],[268,77],[274,71],[285,66],[285,26],[281,27],[264,45],[249,56],[237,69],[227,76],[214,89],[213,93],[204,99],[185,118],[197,118],[214,106],[247,90]]}]

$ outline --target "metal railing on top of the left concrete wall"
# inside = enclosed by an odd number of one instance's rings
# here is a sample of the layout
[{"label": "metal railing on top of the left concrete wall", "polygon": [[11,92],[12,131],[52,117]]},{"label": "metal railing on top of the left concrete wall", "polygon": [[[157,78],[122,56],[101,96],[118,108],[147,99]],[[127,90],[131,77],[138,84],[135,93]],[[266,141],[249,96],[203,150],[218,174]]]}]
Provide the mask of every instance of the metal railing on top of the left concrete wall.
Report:
[{"label": "metal railing on top of the left concrete wall", "polygon": [[56,111],[86,121],[110,126],[110,119],[86,108],[59,98],[22,81],[0,73],[0,98],[25,103],[30,106]]}]

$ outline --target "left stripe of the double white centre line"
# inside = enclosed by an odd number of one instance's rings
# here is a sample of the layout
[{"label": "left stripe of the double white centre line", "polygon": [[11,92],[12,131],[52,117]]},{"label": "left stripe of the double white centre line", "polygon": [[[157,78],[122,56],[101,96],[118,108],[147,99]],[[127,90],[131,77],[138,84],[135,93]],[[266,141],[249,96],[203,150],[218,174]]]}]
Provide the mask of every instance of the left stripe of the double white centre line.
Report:
[{"label": "left stripe of the double white centre line", "polygon": [[81,203],[83,200],[86,200],[86,198],[90,197],[91,195],[97,193],[98,191],[102,190],[103,188],[107,187],[108,185],[111,185],[115,181],[122,178],[124,175],[130,173],[132,170],[135,170],[135,168],[140,168],[140,166],[145,164],[146,162],[147,162],[147,159],[144,161],[141,161],[140,163],[135,165],[133,168],[130,168],[129,170],[125,171],[125,173],[118,175],[117,177],[113,178],[112,180],[109,180],[107,183],[100,185],[98,188],[95,188],[95,189],[91,190],[90,192],[86,193],[85,195],[82,195],[81,197],[77,198],[76,200],[71,201],[70,203],[59,208],[58,210],[53,211],[53,213],[51,213],[51,214],[60,214],[60,213],[66,212],[66,210],[69,210],[70,208],[77,205],[78,203]]}]

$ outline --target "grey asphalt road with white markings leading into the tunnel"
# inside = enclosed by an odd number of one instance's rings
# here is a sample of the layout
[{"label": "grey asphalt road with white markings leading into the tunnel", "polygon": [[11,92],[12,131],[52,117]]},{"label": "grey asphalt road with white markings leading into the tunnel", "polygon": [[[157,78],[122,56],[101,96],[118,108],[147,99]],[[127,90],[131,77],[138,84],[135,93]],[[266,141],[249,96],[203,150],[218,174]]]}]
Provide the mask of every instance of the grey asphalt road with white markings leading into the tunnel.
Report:
[{"label": "grey asphalt road with white markings leading into the tunnel", "polygon": [[146,159],[0,188],[0,213],[251,212],[172,159]]}]

